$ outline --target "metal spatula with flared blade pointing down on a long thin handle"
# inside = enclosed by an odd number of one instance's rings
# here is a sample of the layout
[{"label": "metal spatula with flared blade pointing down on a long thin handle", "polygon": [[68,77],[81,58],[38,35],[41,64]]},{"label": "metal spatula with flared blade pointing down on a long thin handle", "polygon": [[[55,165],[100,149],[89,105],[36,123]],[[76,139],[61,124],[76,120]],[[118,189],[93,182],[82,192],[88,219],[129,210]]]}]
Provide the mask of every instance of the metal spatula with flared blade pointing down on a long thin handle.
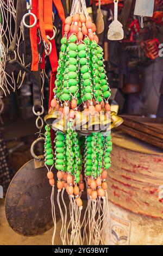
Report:
[{"label": "metal spatula with flared blade pointing down on a long thin handle", "polygon": [[122,24],[118,21],[118,0],[114,0],[114,21],[109,25],[108,39],[109,40],[122,40],[124,32]]}]

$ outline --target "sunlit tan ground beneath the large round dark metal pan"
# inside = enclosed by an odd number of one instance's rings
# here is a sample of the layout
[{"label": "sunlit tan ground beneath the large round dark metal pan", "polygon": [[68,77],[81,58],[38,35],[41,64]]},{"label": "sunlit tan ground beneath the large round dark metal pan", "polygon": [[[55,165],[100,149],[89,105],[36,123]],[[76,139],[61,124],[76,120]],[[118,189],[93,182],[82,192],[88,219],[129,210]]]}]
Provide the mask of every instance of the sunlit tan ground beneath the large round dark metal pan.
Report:
[{"label": "sunlit tan ground beneath the large round dark metal pan", "polygon": [[[61,245],[59,236],[61,223],[57,223],[57,233],[55,235],[55,244]],[[15,233],[9,227],[4,211],[4,200],[0,199],[0,245],[51,245],[53,228],[43,235],[25,237]]]}]

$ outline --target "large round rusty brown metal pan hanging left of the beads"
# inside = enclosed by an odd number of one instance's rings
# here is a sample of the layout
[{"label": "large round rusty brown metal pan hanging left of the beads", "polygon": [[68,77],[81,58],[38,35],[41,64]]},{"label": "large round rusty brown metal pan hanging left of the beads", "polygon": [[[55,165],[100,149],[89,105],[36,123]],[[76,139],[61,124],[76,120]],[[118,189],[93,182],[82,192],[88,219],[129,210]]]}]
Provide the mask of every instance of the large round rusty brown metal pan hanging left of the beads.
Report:
[{"label": "large round rusty brown metal pan hanging left of the beads", "polygon": [[53,227],[52,187],[47,168],[35,169],[30,160],[15,174],[5,198],[5,214],[10,227],[24,236],[45,233]]}]

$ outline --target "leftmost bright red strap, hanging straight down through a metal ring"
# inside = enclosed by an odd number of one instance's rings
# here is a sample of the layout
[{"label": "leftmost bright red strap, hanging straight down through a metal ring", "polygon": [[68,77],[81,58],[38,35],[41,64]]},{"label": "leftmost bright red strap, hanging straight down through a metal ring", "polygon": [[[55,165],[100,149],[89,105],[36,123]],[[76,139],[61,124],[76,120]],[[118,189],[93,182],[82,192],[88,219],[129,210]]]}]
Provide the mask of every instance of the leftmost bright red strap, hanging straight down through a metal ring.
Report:
[{"label": "leftmost bright red strap, hanging straight down through a metal ring", "polygon": [[[32,12],[35,14],[36,18],[38,19],[38,0],[32,1]],[[34,18],[30,15],[30,25],[34,23]],[[30,28],[30,44],[32,48],[32,71],[38,71],[39,69],[39,53],[37,50],[37,25]]]}]

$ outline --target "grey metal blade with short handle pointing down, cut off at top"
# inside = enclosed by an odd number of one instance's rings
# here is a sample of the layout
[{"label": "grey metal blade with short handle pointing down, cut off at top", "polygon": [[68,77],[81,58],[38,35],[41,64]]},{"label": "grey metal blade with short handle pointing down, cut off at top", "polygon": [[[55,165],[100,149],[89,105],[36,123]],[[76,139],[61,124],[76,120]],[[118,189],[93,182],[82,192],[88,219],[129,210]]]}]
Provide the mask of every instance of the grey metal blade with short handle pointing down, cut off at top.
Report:
[{"label": "grey metal blade with short handle pointing down, cut off at top", "polygon": [[143,28],[143,17],[152,17],[154,11],[154,0],[136,0],[134,15],[141,16],[141,27]]}]

